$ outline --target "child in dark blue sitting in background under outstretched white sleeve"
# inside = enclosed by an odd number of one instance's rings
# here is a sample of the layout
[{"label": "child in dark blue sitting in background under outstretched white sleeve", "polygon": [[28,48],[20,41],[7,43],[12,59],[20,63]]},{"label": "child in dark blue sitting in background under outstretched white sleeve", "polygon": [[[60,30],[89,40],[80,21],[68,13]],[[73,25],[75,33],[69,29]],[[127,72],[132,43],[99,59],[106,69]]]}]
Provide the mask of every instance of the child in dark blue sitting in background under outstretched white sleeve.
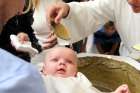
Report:
[{"label": "child in dark blue sitting in background under outstretched white sleeve", "polygon": [[101,54],[119,55],[120,42],[121,39],[111,21],[94,33],[94,43]]}]

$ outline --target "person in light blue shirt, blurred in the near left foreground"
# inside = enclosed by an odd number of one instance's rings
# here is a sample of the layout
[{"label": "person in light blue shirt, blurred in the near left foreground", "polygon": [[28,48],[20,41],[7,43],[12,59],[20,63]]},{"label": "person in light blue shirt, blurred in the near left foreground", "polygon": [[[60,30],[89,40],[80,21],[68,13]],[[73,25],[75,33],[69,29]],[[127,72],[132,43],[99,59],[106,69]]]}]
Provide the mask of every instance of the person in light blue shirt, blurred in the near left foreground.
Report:
[{"label": "person in light blue shirt, blurred in the near left foreground", "polygon": [[[24,0],[0,0],[0,34],[6,22],[22,12],[24,4]],[[43,80],[32,64],[1,48],[0,64],[0,93],[46,93]]]}]

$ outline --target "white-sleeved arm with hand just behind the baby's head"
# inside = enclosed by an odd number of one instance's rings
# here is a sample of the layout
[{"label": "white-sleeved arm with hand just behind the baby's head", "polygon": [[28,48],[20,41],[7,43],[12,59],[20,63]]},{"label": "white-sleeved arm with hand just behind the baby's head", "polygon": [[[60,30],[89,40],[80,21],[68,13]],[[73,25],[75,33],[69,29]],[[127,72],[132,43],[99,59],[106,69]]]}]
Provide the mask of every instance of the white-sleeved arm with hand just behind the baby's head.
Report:
[{"label": "white-sleeved arm with hand just behind the baby's head", "polygon": [[52,3],[61,0],[31,0],[33,4],[33,19],[32,28],[34,33],[39,40],[39,43],[43,49],[49,49],[57,44],[57,37],[49,29],[49,23],[46,20],[46,8]]}]

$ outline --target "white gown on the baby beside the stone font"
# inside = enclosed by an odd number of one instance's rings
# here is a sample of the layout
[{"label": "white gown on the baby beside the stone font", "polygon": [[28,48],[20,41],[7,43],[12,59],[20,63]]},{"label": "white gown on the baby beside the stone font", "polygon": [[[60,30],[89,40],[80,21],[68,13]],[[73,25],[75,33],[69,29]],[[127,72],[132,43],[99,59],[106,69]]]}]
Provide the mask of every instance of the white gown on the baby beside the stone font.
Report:
[{"label": "white gown on the baby beside the stone font", "polygon": [[80,72],[77,77],[43,76],[47,93],[101,93],[92,87],[91,82]]}]

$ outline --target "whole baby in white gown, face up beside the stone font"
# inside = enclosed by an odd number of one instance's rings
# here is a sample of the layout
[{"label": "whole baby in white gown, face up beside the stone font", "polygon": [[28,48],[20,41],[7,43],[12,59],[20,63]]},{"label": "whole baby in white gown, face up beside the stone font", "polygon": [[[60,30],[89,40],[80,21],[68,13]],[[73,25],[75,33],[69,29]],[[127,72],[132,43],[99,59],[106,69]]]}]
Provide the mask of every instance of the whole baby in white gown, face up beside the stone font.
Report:
[{"label": "whole baby in white gown, face up beside the stone font", "polygon": [[[51,49],[43,64],[48,93],[101,93],[90,81],[77,70],[76,53],[64,47]],[[130,93],[128,86],[123,84],[113,93]]]}]

